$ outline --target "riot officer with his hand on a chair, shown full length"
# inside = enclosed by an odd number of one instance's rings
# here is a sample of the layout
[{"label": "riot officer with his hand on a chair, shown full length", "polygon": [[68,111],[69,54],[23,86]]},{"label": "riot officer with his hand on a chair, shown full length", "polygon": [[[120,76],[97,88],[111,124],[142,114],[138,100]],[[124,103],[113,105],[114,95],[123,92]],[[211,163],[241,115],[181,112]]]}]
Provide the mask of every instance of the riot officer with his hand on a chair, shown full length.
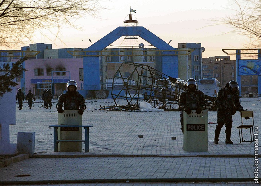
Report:
[{"label": "riot officer with his hand on a chair, shown full length", "polygon": [[238,90],[238,83],[236,81],[231,81],[228,84],[228,88],[220,89],[217,93],[217,125],[215,130],[214,144],[218,144],[219,134],[224,124],[226,127],[225,143],[233,144],[230,139],[233,122],[232,115],[234,115],[236,111],[244,111],[239,102],[239,96],[237,94]]}]

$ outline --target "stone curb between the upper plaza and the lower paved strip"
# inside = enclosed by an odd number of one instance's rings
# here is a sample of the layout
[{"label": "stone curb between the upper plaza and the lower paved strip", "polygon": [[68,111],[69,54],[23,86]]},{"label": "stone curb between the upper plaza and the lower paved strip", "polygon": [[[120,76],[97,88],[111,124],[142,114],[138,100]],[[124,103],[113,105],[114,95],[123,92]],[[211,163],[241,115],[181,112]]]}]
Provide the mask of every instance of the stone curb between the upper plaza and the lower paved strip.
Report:
[{"label": "stone curb between the upper plaza and the lower paved strip", "polygon": [[[210,154],[210,155],[159,155],[159,154],[34,154],[34,158],[88,158],[88,157],[157,157],[157,158],[186,158],[186,157],[201,157],[201,158],[253,158],[253,154]],[[261,157],[261,155],[258,155]]]}]

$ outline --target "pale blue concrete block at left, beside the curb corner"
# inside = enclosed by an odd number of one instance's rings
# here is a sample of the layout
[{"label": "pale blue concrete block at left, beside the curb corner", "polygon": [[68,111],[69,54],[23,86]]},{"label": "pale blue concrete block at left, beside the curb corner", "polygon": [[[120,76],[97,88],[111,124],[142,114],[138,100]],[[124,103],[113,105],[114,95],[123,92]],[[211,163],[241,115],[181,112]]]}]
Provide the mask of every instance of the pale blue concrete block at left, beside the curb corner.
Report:
[{"label": "pale blue concrete block at left, beside the curb corner", "polygon": [[17,149],[20,154],[34,155],[35,132],[18,132]]}]

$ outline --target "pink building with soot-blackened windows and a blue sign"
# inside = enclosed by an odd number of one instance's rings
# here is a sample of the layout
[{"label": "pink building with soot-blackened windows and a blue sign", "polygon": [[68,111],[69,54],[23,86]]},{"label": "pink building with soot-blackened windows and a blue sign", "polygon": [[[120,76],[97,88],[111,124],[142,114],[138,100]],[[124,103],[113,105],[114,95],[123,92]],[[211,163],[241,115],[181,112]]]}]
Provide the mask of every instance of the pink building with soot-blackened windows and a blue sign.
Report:
[{"label": "pink building with soot-blackened windows and a blue sign", "polygon": [[24,83],[25,94],[32,90],[37,98],[40,98],[44,88],[50,89],[56,98],[67,90],[69,80],[77,82],[77,90],[80,90],[83,82],[83,59],[28,59],[25,61],[25,69],[24,82],[23,79],[19,82],[19,78],[16,82]]}]

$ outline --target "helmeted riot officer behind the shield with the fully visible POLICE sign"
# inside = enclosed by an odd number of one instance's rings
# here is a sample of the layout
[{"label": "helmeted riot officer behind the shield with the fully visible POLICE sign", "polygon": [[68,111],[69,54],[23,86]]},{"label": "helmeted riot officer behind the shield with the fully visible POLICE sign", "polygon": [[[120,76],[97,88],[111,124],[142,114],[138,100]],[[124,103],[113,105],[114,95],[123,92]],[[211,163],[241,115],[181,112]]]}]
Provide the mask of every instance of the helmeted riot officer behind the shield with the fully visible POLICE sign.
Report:
[{"label": "helmeted riot officer behind the shield with the fully visible POLICE sign", "polygon": [[[191,110],[196,110],[196,113],[200,114],[203,109],[206,109],[205,94],[197,90],[196,86],[196,80],[189,78],[187,80],[187,90],[182,92],[179,97],[179,108],[187,114],[190,114]],[[184,127],[181,125],[182,133],[183,130]]]}]

